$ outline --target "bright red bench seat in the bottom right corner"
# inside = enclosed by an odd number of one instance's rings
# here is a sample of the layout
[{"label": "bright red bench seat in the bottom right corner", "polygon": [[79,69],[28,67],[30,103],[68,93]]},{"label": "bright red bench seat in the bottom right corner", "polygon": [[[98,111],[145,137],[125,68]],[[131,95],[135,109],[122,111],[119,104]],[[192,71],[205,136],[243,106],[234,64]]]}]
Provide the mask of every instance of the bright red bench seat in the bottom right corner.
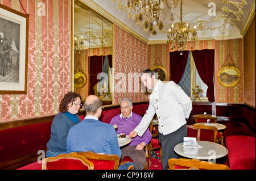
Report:
[{"label": "bright red bench seat in the bottom right corner", "polygon": [[255,137],[225,137],[230,170],[255,170]]}]

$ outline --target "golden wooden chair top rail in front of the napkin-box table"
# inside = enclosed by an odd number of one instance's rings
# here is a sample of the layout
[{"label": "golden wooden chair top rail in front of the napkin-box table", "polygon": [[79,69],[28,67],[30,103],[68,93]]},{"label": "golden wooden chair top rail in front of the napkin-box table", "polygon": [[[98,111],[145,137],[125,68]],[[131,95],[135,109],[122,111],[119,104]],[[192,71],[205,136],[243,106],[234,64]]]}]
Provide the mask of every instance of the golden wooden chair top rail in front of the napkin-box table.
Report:
[{"label": "golden wooden chair top rail in front of the napkin-box table", "polygon": [[190,170],[229,170],[229,167],[222,164],[200,161],[199,159],[187,159],[187,158],[171,158],[168,159],[168,165],[170,170],[175,170],[175,166],[189,167]]}]

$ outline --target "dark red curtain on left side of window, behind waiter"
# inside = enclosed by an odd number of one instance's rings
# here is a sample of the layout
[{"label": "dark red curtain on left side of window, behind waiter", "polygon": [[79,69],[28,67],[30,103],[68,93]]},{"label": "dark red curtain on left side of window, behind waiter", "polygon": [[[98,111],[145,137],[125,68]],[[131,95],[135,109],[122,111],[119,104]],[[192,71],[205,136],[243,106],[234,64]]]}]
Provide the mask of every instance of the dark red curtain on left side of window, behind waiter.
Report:
[{"label": "dark red curtain on left side of window, behind waiter", "polygon": [[170,70],[171,70],[171,81],[179,83],[188,60],[188,51],[185,50],[182,52],[182,56],[179,51],[170,52]]}]

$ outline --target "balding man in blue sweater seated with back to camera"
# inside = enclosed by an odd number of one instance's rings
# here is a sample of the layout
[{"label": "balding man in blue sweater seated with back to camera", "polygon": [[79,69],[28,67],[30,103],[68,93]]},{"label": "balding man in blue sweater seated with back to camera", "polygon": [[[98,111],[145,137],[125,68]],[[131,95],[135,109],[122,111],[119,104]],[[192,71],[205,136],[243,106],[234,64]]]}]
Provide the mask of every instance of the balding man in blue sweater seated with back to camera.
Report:
[{"label": "balding man in blue sweater seated with back to camera", "polygon": [[[98,120],[102,112],[102,100],[96,95],[89,95],[84,100],[84,111],[86,112],[84,120],[68,132],[67,152],[93,151],[116,154],[120,158],[121,150],[114,127]],[[126,163],[118,169],[125,170],[130,165],[134,163]]]}]

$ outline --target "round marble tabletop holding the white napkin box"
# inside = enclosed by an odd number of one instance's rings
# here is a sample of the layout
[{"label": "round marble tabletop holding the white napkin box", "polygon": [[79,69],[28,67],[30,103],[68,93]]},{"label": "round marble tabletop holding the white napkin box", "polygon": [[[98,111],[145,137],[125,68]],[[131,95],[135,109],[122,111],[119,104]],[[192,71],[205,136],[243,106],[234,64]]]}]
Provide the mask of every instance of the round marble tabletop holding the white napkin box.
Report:
[{"label": "round marble tabletop holding the white napkin box", "polygon": [[221,157],[225,157],[228,154],[228,150],[216,142],[210,141],[197,141],[198,145],[202,146],[202,148],[195,148],[190,146],[183,146],[183,142],[177,144],[174,147],[174,151],[187,158],[193,159],[217,159]]}]

